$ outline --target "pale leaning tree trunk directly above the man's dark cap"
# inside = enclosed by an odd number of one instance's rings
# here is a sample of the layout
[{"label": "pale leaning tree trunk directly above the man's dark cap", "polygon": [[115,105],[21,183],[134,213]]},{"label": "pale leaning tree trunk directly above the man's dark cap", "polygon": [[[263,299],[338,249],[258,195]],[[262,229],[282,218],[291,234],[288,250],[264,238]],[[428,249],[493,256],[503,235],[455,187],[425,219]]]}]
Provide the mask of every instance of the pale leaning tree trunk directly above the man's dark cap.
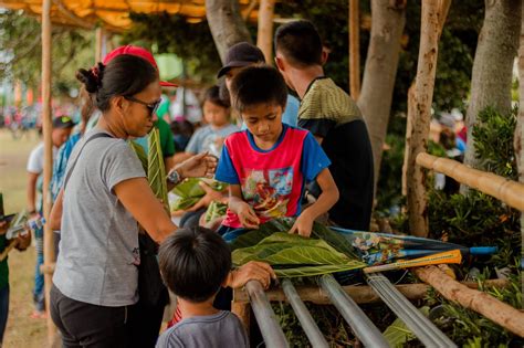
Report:
[{"label": "pale leaning tree trunk directly above the man's dark cap", "polygon": [[222,63],[233,44],[251,42],[238,0],[206,0],[206,18]]}]

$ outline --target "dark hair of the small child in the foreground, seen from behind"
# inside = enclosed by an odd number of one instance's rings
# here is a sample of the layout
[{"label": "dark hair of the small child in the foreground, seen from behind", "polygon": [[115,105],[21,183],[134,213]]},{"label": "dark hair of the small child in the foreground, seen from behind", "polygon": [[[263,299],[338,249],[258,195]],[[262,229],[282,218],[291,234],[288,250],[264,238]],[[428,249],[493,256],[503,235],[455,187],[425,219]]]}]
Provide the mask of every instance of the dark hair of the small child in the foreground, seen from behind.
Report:
[{"label": "dark hair of the small child in the foreground, seen from behind", "polygon": [[180,229],[160,245],[164,282],[184,299],[201,303],[213,296],[231,270],[231,251],[216,232],[196,226]]}]

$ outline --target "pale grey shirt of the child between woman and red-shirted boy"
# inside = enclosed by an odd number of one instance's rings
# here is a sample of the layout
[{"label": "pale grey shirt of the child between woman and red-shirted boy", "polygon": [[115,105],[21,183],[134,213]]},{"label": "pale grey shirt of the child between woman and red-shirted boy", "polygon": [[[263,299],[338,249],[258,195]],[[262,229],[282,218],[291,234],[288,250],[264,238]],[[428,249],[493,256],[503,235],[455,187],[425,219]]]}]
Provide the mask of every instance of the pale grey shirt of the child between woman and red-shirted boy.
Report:
[{"label": "pale grey shirt of the child between woman and red-shirted boy", "polygon": [[[235,125],[227,125],[220,129],[213,129],[211,125],[203,126],[191,136],[188,146],[186,147],[187,152],[201,154],[203,151],[210,151],[210,154],[220,156],[222,151],[223,139],[230,134],[239,131],[240,128]],[[222,138],[222,141],[217,145],[216,140]]]}]

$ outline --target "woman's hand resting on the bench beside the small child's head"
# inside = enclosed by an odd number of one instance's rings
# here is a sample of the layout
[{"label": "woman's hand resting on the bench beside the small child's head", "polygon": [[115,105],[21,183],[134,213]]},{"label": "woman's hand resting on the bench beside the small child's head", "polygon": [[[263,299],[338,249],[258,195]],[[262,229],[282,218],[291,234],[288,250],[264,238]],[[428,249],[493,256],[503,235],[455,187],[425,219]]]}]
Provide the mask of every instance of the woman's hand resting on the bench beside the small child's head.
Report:
[{"label": "woman's hand resting on the bench beside the small child's head", "polygon": [[244,286],[249,281],[259,281],[264,288],[268,288],[272,278],[276,280],[276,274],[269,264],[250,261],[240,268],[229,273],[226,286],[239,288]]}]

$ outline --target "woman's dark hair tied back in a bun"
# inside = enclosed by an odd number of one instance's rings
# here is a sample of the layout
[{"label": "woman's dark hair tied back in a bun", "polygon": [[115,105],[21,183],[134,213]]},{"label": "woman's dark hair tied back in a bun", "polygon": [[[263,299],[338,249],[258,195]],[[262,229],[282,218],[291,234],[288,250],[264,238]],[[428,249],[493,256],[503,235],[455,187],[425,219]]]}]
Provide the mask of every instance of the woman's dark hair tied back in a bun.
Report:
[{"label": "woman's dark hair tied back in a bun", "polygon": [[112,97],[132,96],[144,91],[158,80],[158,71],[142,57],[123,54],[107,65],[98,63],[91,70],[78,70],[76,78],[95,96],[98,109],[105,112]]}]

